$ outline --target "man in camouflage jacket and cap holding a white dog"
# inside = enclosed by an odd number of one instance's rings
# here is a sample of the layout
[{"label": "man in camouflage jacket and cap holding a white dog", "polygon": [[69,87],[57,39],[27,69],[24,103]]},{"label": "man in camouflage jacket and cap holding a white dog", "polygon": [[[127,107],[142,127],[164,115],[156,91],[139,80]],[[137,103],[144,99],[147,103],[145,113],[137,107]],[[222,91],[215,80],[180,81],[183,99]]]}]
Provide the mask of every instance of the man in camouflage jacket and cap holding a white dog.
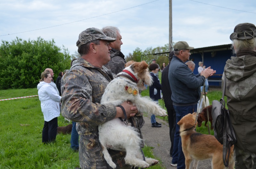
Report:
[{"label": "man in camouflage jacket and cap holding a white dog", "polygon": [[[110,60],[108,42],[116,39],[107,37],[100,29],[88,28],[80,33],[76,45],[78,58],[61,80],[63,117],[76,121],[80,135],[79,162],[82,169],[108,168],[98,138],[98,125],[114,118],[124,118],[120,107],[100,105],[108,83],[116,76],[103,65]],[[121,104],[132,117],[138,113],[131,103]],[[125,152],[109,150],[117,168],[131,168],[124,162]]]}]

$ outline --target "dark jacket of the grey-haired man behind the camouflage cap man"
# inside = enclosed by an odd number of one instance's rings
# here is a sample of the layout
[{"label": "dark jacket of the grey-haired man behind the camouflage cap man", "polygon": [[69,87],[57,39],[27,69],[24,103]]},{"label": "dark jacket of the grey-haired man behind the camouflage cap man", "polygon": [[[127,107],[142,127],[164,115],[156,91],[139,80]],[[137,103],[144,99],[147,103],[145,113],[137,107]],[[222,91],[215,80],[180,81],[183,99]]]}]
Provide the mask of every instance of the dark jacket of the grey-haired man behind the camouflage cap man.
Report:
[{"label": "dark jacket of the grey-haired man behind the camouflage cap man", "polygon": [[104,66],[117,75],[124,69],[124,64],[126,63],[124,54],[121,51],[112,48],[110,50],[110,58],[111,60]]}]

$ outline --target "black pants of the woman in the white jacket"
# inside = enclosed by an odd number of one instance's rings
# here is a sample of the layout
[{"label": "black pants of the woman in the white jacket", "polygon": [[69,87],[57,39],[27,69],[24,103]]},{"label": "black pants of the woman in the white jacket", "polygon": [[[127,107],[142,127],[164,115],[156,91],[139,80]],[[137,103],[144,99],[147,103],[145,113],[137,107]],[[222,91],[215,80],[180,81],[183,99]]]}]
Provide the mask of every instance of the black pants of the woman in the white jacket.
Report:
[{"label": "black pants of the woman in the white jacket", "polygon": [[55,141],[57,135],[58,118],[55,117],[51,121],[44,121],[44,128],[42,132],[42,142],[50,143]]}]

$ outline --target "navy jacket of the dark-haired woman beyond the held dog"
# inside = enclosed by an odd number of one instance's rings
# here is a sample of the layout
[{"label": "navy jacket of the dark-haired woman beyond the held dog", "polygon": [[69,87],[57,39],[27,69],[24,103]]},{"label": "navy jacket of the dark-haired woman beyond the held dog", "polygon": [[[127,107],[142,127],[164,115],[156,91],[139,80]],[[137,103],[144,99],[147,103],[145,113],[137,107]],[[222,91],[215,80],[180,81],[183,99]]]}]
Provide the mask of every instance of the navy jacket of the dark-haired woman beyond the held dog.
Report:
[{"label": "navy jacket of the dark-haired woman beyond the held dog", "polygon": [[154,82],[151,86],[149,86],[149,97],[153,100],[161,99],[162,86],[160,84],[160,80],[155,73],[150,72],[150,75],[152,76]]}]

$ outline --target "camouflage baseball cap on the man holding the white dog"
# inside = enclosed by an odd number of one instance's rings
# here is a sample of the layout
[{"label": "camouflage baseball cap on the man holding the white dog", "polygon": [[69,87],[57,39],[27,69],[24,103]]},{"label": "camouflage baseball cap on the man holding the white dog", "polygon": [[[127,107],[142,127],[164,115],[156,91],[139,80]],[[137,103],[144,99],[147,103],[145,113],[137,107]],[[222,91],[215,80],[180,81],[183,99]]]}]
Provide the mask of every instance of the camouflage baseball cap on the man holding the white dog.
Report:
[{"label": "camouflage baseball cap on the man holding the white dog", "polygon": [[97,39],[107,40],[108,42],[114,42],[116,40],[115,38],[106,36],[100,29],[91,27],[79,34],[78,41],[80,43],[77,41],[76,46],[79,48],[81,45]]}]

